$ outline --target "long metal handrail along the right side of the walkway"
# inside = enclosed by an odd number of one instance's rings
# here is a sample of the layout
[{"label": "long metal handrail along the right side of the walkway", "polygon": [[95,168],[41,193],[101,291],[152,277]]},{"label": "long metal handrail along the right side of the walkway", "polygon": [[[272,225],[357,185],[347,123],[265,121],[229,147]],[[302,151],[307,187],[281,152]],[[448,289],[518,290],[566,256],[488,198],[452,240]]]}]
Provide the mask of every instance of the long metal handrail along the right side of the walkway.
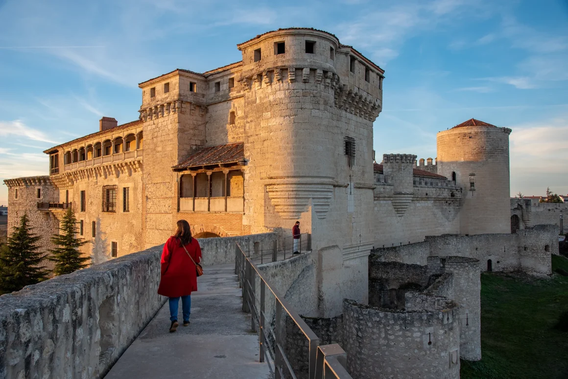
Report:
[{"label": "long metal handrail along the right side of the walkway", "polygon": [[[282,348],[282,342],[285,340],[285,319],[282,317],[285,311],[287,315],[294,321],[296,326],[308,340],[309,357],[308,357],[308,378],[309,379],[352,379],[349,373],[343,368],[346,364],[346,354],[337,344],[319,346],[320,339],[314,331],[308,327],[306,322],[300,317],[290,303],[274,288],[273,284],[264,276],[258,269],[256,264],[252,262],[241,249],[239,243],[236,243],[235,249],[235,274],[239,276],[239,287],[243,291],[243,311],[250,312],[250,328],[252,331],[259,332],[259,360],[264,362],[265,358],[270,361],[272,353],[272,364],[269,362],[268,366],[271,373],[275,373],[276,379],[284,377],[283,369],[286,369],[290,376],[296,378],[291,367],[290,361]],[[260,283],[260,298],[256,296],[256,276],[259,277]],[[265,298],[266,288],[272,292],[275,298],[275,324],[274,330],[268,327],[268,331],[274,338],[274,349],[270,347],[270,340],[266,335],[266,315],[265,315]],[[256,309],[256,304],[260,305],[260,309]],[[268,350],[268,351],[267,351]],[[318,356],[319,354],[319,356]],[[343,361],[336,359],[337,355],[345,357]],[[319,361],[318,361],[319,359]],[[343,368],[343,371],[340,367]],[[318,374],[320,373],[320,374]]]}]

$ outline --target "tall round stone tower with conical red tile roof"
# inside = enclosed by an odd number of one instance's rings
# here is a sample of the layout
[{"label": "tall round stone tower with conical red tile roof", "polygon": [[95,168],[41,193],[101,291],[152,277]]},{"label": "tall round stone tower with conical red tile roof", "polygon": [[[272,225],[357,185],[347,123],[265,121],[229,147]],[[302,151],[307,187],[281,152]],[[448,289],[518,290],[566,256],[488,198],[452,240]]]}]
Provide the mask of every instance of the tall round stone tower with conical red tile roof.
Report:
[{"label": "tall round stone tower with conical red tile roof", "polygon": [[509,133],[471,119],[437,134],[438,174],[462,188],[460,233],[510,233]]}]

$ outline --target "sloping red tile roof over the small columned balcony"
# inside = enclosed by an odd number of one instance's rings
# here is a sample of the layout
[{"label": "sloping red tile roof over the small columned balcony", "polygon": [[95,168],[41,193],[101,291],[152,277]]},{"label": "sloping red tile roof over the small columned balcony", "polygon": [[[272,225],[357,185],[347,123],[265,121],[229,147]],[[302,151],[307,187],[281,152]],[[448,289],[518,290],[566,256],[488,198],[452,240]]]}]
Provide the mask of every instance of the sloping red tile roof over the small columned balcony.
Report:
[{"label": "sloping red tile roof over the small columned balcony", "polygon": [[209,165],[219,165],[222,163],[236,163],[245,160],[244,143],[210,146],[191,154],[185,161],[173,166],[172,169],[189,169],[190,167],[200,167]]}]

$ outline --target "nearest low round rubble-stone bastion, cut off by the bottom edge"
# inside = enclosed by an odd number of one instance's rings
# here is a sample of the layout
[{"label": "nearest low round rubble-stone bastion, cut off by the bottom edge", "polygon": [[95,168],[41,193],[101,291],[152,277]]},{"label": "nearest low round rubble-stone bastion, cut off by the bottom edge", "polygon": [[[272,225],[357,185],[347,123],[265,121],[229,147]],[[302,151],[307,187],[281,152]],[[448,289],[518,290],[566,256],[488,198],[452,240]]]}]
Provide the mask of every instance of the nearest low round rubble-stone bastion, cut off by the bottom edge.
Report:
[{"label": "nearest low round rubble-stone bastion, cut off by the bottom edge", "polygon": [[459,378],[458,306],[397,311],[345,300],[344,344],[354,379]]}]

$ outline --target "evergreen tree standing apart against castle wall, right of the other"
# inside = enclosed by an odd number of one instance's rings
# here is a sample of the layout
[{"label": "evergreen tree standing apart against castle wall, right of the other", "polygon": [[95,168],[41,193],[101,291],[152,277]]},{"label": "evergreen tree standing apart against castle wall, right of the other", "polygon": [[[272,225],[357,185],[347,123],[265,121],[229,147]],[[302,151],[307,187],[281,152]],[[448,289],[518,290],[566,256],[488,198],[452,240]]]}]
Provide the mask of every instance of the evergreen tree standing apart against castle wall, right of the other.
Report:
[{"label": "evergreen tree standing apart against castle wall, right of the other", "polygon": [[61,234],[54,234],[51,238],[51,242],[56,246],[55,249],[49,251],[51,252],[49,260],[55,262],[53,273],[64,275],[89,266],[86,262],[90,258],[81,256],[79,251],[79,248],[89,241],[76,237],[77,219],[70,208],[61,220],[60,231]]}]

